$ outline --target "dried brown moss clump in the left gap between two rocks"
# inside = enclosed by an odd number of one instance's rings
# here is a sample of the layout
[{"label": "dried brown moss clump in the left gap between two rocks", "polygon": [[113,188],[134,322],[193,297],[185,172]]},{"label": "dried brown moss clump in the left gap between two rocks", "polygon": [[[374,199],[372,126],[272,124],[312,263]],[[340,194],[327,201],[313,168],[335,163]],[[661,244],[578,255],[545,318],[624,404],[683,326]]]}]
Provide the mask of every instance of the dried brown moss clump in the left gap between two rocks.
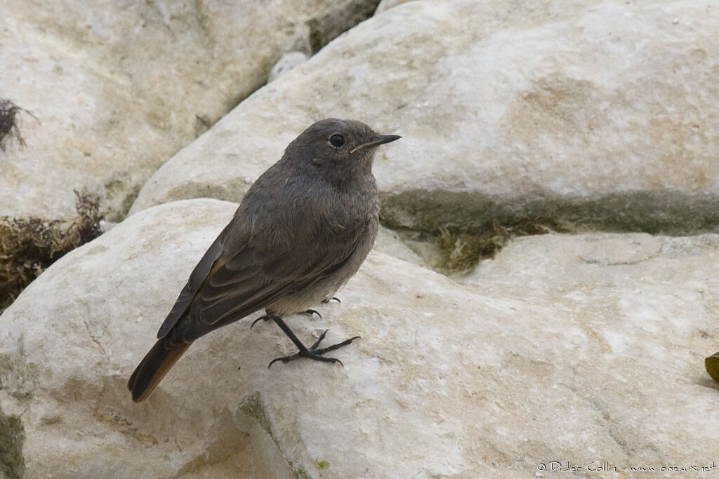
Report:
[{"label": "dried brown moss clump in the left gap between two rocks", "polygon": [[99,200],[75,196],[69,221],[0,217],[0,312],[47,266],[101,235]]}]

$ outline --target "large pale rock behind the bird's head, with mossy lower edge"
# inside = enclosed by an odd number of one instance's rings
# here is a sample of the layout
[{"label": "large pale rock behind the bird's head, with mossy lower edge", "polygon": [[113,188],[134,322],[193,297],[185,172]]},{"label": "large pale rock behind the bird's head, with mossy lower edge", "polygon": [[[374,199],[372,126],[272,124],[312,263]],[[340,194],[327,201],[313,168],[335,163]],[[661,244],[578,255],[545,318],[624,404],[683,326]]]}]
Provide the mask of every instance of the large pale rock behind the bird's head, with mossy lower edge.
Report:
[{"label": "large pale rock behind the bird's head, with mossy lower edge", "polygon": [[401,134],[375,172],[390,225],[545,218],[719,224],[719,15],[700,1],[416,0],[359,24],[164,164],[136,212],[238,200],[327,116]]}]

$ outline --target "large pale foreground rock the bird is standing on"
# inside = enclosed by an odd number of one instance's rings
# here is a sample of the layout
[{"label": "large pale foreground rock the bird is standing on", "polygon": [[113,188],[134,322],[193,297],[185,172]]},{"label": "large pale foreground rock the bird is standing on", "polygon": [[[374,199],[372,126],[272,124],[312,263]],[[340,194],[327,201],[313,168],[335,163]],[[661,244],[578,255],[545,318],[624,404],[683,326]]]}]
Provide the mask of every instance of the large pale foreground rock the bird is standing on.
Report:
[{"label": "large pale foreground rock the bird is standing on", "polygon": [[613,477],[587,468],[710,465],[719,390],[702,358],[719,343],[716,235],[523,238],[466,284],[374,251],[342,304],[320,307],[324,319],[288,318],[304,340],[327,327],[330,341],[361,335],[334,354],[344,368],[268,371],[290,343],[242,320],[198,340],[132,404],[127,376],[234,207],[137,213],[0,316],[0,430],[24,434],[7,456],[24,458],[26,477],[530,478],[553,460]]}]

